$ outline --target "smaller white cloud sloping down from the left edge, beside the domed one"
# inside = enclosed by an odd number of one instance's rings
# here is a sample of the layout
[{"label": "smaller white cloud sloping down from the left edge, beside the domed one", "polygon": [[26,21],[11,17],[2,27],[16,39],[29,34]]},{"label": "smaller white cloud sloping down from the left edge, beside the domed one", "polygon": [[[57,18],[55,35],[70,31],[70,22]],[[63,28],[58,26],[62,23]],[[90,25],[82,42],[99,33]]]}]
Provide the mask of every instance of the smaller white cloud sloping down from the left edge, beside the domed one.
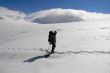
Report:
[{"label": "smaller white cloud sloping down from the left edge, beside the domed one", "polygon": [[20,11],[10,10],[6,7],[0,7],[0,19],[5,20],[24,20],[26,14]]}]

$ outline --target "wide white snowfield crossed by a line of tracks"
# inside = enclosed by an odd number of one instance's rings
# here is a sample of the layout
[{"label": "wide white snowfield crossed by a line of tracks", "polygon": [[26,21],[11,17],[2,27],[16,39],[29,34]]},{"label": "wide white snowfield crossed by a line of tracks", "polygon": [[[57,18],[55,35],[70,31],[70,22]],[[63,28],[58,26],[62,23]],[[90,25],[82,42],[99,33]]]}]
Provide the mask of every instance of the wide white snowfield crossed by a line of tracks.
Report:
[{"label": "wide white snowfield crossed by a line of tracks", "polygon": [[[109,20],[41,25],[1,19],[0,73],[110,73]],[[45,58],[49,30],[58,32],[57,47]]]}]

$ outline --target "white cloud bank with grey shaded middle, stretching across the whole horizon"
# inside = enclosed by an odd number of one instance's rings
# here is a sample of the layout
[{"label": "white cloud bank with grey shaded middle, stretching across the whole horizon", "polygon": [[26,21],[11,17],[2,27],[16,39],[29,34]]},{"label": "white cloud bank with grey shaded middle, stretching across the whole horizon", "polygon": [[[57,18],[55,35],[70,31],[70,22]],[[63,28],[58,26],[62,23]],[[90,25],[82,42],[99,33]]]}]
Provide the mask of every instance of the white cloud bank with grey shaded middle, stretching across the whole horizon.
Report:
[{"label": "white cloud bank with grey shaded middle, stretching across the whole horizon", "polygon": [[74,9],[49,9],[26,15],[20,11],[0,7],[0,20],[31,21],[41,24],[79,22],[88,20],[110,19],[110,14],[87,12]]}]

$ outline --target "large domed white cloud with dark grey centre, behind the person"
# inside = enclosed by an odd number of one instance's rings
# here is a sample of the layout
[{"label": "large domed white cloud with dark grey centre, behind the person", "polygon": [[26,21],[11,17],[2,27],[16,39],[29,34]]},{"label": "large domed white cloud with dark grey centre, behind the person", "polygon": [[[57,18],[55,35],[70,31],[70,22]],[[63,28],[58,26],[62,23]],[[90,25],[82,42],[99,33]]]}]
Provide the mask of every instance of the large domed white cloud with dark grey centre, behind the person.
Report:
[{"label": "large domed white cloud with dark grey centre, behind the person", "polygon": [[28,16],[30,21],[41,24],[79,22],[84,20],[96,20],[108,17],[110,18],[109,14],[61,8],[42,10],[32,13]]}]

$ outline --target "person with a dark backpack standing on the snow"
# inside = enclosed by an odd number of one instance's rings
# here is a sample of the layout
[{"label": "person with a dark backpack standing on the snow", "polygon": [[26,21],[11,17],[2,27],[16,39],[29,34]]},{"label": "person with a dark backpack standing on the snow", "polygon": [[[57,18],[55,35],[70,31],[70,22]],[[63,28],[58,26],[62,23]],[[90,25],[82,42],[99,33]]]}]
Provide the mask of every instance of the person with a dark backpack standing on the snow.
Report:
[{"label": "person with a dark backpack standing on the snow", "polygon": [[54,53],[54,49],[56,47],[56,34],[57,34],[57,31],[49,31],[48,42],[50,45],[52,44],[51,53]]}]

